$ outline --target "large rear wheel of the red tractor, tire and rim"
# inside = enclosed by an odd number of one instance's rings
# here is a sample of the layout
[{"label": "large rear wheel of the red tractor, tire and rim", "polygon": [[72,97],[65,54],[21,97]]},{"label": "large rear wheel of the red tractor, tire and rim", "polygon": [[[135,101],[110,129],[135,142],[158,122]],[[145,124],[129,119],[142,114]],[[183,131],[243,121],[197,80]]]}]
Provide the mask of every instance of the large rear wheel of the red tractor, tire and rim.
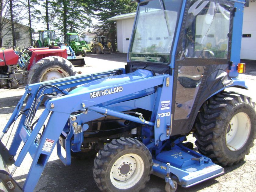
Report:
[{"label": "large rear wheel of the red tractor, tire and rim", "polygon": [[[58,56],[45,57],[35,63],[28,74],[28,84],[76,75],[76,69],[67,59]],[[68,91],[68,90],[67,90]],[[58,95],[56,95],[58,96]],[[42,103],[54,95],[45,95]]]}]

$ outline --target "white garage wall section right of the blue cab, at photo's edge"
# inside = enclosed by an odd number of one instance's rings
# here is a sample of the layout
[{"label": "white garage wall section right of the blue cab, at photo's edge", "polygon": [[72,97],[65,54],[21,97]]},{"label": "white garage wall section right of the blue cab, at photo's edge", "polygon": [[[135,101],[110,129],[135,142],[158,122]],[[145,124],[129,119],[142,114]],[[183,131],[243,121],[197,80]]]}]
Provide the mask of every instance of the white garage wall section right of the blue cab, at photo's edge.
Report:
[{"label": "white garage wall section right of the blue cab, at photo's edge", "polygon": [[242,37],[241,59],[256,60],[256,2],[249,2],[249,7],[244,8],[243,34],[251,37]]}]

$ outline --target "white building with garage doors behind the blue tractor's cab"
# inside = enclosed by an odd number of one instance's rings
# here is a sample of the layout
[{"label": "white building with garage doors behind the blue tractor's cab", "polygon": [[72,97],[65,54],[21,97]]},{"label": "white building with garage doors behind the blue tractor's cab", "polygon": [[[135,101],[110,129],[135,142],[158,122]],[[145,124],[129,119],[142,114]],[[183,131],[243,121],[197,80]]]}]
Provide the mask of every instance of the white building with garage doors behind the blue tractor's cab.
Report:
[{"label": "white building with garage doors behind the blue tractor's cab", "polygon": [[[256,1],[250,1],[249,7],[244,8],[243,37],[241,59],[256,60]],[[136,13],[128,13],[109,18],[116,21],[117,50],[127,53]],[[235,30],[235,29],[234,29]]]}]

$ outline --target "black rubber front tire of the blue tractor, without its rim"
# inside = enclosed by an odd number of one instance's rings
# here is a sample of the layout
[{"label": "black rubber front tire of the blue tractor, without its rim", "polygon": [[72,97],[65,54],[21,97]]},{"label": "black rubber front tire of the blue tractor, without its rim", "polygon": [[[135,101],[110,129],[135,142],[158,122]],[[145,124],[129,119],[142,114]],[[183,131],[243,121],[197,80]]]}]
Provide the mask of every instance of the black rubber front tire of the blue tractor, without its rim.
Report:
[{"label": "black rubber front tire of the blue tractor, without its rim", "polygon": [[[120,190],[112,185],[109,177],[110,170],[112,163],[127,153],[140,154],[140,157],[144,161],[145,169],[137,184],[129,189]],[[143,143],[130,137],[121,137],[120,139],[113,139],[111,143],[105,144],[104,148],[98,152],[98,156],[94,159],[93,176],[98,188],[104,192],[139,191],[150,180],[150,175],[153,171],[152,166],[152,155]]]}]

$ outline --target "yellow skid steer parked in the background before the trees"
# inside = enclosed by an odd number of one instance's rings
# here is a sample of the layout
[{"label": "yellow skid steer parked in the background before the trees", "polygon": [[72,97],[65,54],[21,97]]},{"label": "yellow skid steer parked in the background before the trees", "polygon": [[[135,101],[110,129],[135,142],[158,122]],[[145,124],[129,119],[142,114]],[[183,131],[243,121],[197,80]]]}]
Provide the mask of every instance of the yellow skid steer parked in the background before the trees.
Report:
[{"label": "yellow skid steer parked in the background before the trees", "polygon": [[107,41],[107,38],[104,36],[96,36],[90,43],[91,52],[93,54],[101,54],[101,53],[112,53],[112,45]]}]

